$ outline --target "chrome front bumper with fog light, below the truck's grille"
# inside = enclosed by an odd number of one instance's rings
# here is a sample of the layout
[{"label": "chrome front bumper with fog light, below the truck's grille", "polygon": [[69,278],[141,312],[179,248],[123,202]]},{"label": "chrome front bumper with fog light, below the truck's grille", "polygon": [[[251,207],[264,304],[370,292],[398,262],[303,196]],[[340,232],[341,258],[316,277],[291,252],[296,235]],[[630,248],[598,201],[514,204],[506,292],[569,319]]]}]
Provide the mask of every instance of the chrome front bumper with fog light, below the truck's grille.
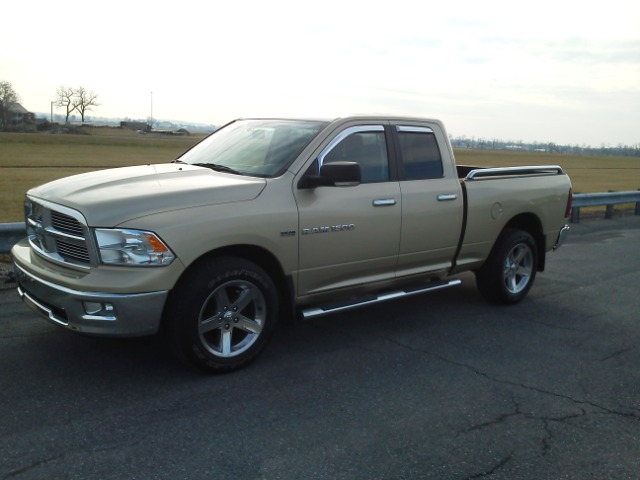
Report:
[{"label": "chrome front bumper with fog light, below the truck's grille", "polygon": [[52,323],[110,337],[136,337],[158,331],[167,291],[80,292],[36,278],[15,263],[13,270],[22,301]]}]

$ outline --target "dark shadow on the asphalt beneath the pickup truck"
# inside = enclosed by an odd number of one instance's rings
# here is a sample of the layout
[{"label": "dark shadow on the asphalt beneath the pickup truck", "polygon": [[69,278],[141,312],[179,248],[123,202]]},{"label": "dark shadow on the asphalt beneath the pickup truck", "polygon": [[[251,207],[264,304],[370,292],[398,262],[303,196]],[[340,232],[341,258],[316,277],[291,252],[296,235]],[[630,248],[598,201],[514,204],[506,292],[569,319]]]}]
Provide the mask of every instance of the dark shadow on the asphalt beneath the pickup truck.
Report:
[{"label": "dark shadow on the asphalt beneath the pickup truck", "polygon": [[[37,382],[43,377],[61,383],[73,379],[74,386],[84,389],[89,385],[97,390],[120,390],[126,386],[143,392],[145,388],[157,389],[157,385],[170,388],[193,382],[277,382],[296,371],[311,370],[323,376],[323,368],[333,371],[341,362],[345,366],[402,363],[407,348],[434,349],[446,355],[448,345],[464,343],[467,332],[477,332],[483,326],[497,328],[498,322],[510,322],[511,317],[515,321],[532,305],[530,299],[514,307],[487,304],[477,293],[472,278],[465,278],[462,286],[437,294],[280,326],[253,363],[224,375],[204,374],[181,364],[159,336],[87,337],[46,323],[37,327],[34,324],[31,330],[35,334],[20,341],[22,348],[13,361],[22,365],[21,382]],[[348,369],[345,367],[342,373],[348,376]]]}]

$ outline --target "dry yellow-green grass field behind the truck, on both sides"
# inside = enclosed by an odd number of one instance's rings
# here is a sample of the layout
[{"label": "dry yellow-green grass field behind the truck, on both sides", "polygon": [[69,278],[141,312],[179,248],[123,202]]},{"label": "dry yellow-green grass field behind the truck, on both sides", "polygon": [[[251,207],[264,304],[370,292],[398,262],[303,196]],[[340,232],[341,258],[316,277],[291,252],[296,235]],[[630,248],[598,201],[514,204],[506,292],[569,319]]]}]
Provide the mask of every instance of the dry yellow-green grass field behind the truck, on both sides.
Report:
[{"label": "dry yellow-green grass field behind the truck, on both sides", "polygon": [[[202,138],[142,135],[118,128],[87,133],[0,133],[0,223],[23,221],[22,200],[31,187],[92,170],[168,162]],[[575,192],[640,188],[638,158],[489,150],[455,153],[461,165],[560,165],[571,177]]]}]

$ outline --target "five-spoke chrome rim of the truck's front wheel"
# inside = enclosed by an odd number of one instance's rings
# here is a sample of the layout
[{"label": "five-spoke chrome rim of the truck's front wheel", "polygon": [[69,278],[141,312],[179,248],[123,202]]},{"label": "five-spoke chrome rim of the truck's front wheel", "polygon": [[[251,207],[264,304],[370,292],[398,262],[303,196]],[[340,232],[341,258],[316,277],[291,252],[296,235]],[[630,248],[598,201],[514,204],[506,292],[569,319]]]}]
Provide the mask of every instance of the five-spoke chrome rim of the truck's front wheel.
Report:
[{"label": "five-spoke chrome rim of the truck's front wheel", "polygon": [[267,303],[256,285],[244,280],[225,282],[211,292],[200,310],[200,341],[217,357],[240,355],[258,340],[266,313]]}]

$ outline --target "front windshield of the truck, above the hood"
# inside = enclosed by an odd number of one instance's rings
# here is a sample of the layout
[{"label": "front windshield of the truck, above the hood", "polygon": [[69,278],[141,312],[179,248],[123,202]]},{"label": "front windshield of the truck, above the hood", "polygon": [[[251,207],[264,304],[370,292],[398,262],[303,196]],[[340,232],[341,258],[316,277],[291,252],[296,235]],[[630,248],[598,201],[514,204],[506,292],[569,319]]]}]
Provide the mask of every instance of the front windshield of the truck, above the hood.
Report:
[{"label": "front windshield of the truck, above the hood", "polygon": [[237,120],[185,152],[178,162],[256,177],[281,175],[325,122]]}]

